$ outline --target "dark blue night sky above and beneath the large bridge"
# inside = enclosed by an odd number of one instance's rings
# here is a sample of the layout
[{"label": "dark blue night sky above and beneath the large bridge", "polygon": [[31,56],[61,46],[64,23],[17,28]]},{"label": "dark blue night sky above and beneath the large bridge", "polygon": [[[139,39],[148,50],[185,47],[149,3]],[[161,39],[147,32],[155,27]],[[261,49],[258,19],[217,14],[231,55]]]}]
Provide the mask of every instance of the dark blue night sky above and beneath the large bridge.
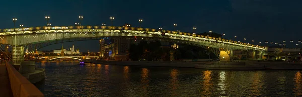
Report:
[{"label": "dark blue night sky above and beneath the large bridge", "polygon": [[[291,0],[33,0],[33,1],[2,1],[0,3],[0,29],[12,28],[12,18],[18,18],[17,24],[26,27],[44,26],[44,16],[50,16],[52,26],[67,26],[78,22],[83,15],[83,25],[100,25],[110,23],[109,17],[114,16],[115,26],[130,23],[138,26],[142,18],[143,27],[192,32],[213,30],[225,33],[226,38],[243,41],[252,39],[255,42],[301,39],[302,1]],[[98,51],[98,41],[64,43],[66,46],[75,44],[82,51]],[[293,44],[295,44],[293,43]],[[287,43],[289,44],[289,43]],[[47,49],[60,48],[61,44],[51,45]],[[46,48],[45,48],[46,49]],[[47,50],[46,49],[46,50]]]}]

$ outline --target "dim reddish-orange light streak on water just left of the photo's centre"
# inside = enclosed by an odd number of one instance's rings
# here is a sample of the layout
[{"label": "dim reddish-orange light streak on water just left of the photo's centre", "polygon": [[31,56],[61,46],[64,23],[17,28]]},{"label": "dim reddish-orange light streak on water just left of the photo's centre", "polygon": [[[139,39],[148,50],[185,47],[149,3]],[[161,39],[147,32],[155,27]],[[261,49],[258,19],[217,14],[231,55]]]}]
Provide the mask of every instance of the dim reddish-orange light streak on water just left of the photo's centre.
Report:
[{"label": "dim reddish-orange light streak on water just left of the photo's centre", "polygon": [[142,85],[142,89],[143,89],[143,95],[147,96],[147,88],[149,86],[148,84],[149,82],[149,70],[147,68],[143,68],[141,70],[141,85]]}]

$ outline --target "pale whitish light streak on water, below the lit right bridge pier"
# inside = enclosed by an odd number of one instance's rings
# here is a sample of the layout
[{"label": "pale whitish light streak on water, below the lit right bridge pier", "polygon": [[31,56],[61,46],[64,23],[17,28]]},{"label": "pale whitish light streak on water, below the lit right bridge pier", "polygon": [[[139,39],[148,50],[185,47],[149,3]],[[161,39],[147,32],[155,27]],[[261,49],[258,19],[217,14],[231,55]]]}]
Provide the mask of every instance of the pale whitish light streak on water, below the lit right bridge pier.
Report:
[{"label": "pale whitish light streak on water, below the lit right bridge pier", "polygon": [[225,72],[220,71],[219,73],[219,81],[218,81],[218,91],[220,91],[220,95],[225,95],[225,90],[226,90],[226,84],[225,84]]}]

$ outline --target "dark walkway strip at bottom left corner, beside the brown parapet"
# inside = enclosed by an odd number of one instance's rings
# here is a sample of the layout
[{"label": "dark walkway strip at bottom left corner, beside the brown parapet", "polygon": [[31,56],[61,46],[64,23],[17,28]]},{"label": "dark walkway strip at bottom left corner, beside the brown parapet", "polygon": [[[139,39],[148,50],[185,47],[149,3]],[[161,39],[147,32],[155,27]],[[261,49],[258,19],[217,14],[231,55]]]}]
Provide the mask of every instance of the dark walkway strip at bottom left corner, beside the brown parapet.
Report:
[{"label": "dark walkway strip at bottom left corner, beside the brown parapet", "polygon": [[0,96],[13,96],[6,66],[0,64]]}]

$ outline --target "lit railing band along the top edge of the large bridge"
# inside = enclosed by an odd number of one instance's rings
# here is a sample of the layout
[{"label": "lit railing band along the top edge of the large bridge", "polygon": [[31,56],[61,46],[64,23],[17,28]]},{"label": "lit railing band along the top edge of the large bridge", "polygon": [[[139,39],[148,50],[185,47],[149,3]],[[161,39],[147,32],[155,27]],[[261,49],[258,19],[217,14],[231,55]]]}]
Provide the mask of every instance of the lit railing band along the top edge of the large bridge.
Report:
[{"label": "lit railing band along the top edge of the large bridge", "polygon": [[[98,31],[97,29],[103,29],[103,30],[132,30],[132,31],[142,31],[143,33],[147,32],[160,32],[160,33],[167,33],[170,35],[180,35],[180,36],[190,36],[193,38],[205,38],[209,39],[212,41],[218,41],[218,42],[224,42],[228,44],[240,44],[242,46],[248,46],[248,47],[256,47],[256,48],[261,48],[264,49],[264,47],[258,46],[258,45],[253,45],[253,44],[247,44],[243,42],[237,42],[237,41],[232,41],[232,40],[227,40],[227,39],[222,39],[222,38],[216,38],[216,37],[210,37],[210,36],[203,36],[199,34],[192,34],[192,33],[187,33],[187,32],[178,32],[178,31],[170,31],[170,30],[162,30],[162,29],[150,29],[150,28],[140,28],[140,27],[125,27],[125,26],[43,26],[43,27],[29,27],[29,28],[12,28],[12,29],[0,29],[0,35],[6,35],[6,34],[24,34],[21,32],[25,33],[33,33],[35,31],[39,30],[84,30],[84,31]],[[15,32],[15,33],[14,33]],[[66,32],[66,31],[65,31]]]}]

